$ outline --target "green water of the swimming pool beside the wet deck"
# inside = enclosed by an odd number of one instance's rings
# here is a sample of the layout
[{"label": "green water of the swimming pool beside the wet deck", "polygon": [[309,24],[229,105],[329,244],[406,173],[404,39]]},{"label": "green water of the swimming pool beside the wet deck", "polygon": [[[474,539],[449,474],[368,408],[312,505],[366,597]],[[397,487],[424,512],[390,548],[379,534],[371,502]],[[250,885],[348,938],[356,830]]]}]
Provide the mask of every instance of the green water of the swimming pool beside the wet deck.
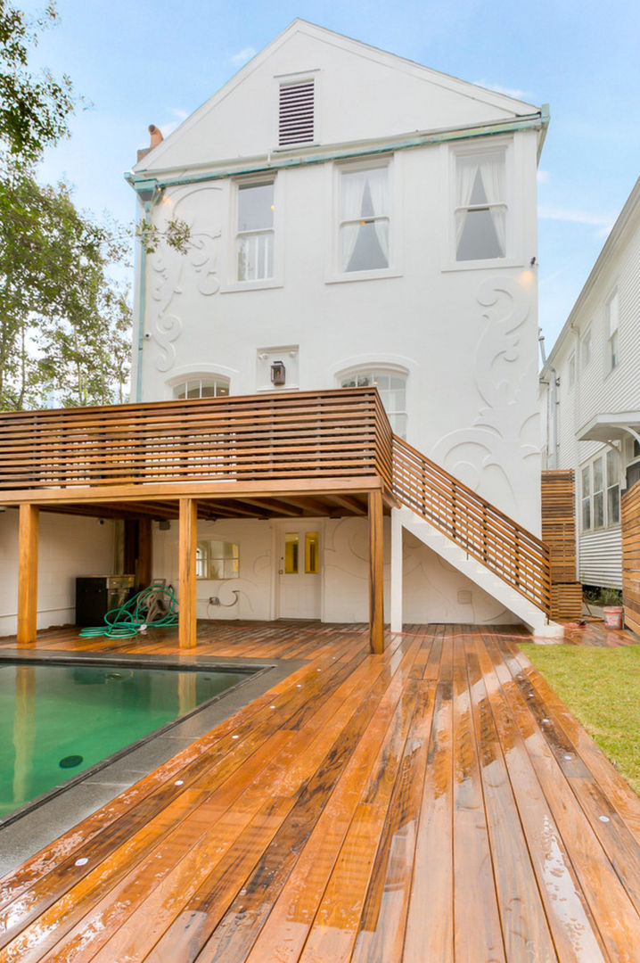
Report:
[{"label": "green water of the swimming pool beside the wet deck", "polygon": [[0,664],[0,819],[245,678],[122,664]]}]

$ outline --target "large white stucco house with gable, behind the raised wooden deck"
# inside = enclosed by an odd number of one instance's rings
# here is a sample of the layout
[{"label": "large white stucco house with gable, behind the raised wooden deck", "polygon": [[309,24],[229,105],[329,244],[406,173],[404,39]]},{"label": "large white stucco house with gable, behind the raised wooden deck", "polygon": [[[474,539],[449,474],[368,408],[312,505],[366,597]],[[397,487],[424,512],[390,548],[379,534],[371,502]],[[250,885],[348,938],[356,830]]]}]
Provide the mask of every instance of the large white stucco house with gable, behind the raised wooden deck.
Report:
[{"label": "large white stucco house with gable, behind the raised wooden deck", "polygon": [[[139,255],[132,402],[260,406],[374,384],[403,463],[417,451],[444,470],[446,524],[423,504],[417,514],[416,499],[388,499],[395,628],[548,621],[523,595],[527,539],[540,534],[536,169],[548,119],[295,20],[126,175],[141,217],[191,232],[186,255],[163,244]],[[479,501],[463,525],[465,485]],[[333,508],[307,498],[264,518],[201,517],[198,617],[366,620],[366,511],[344,497]],[[516,546],[508,564],[486,530],[499,512],[494,531]],[[470,550],[461,530],[476,523]],[[90,568],[118,564],[117,522],[73,524],[97,535]],[[153,575],[174,585],[178,529],[153,523]],[[51,572],[69,597],[72,576],[91,574],[84,561]],[[13,631],[9,610],[0,631]],[[50,620],[73,620],[68,598],[38,625]]]}]

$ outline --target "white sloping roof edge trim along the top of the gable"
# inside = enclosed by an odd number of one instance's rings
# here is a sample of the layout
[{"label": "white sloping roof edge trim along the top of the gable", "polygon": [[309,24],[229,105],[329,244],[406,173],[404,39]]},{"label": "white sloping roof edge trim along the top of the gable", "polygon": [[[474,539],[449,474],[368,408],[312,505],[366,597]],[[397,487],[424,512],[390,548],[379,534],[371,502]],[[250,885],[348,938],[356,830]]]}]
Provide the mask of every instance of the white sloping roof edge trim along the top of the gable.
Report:
[{"label": "white sloping roof edge trim along the top of the gable", "polygon": [[[430,67],[417,64],[397,54],[381,50],[360,40],[347,38],[325,27],[310,23],[300,18],[294,21],[282,31],[275,39],[257,53],[250,61],[243,65],[238,72],[231,77],[216,93],[214,93],[204,104],[197,108],[190,117],[187,117],[166,139],[149,151],[134,168],[135,172],[142,170],[163,169],[172,167],[171,155],[174,148],[182,140],[188,140],[190,132],[194,128],[206,123],[207,118],[212,112],[216,111],[218,105],[222,104],[231,94],[238,90],[241,85],[249,80],[252,75],[260,70],[270,58],[285,47],[295,38],[311,39],[321,44],[333,47],[336,51],[342,51],[361,58],[365,62],[378,65],[383,68],[391,68],[396,72],[404,73],[407,78],[422,80],[429,84],[432,89],[443,91],[448,95],[455,95],[463,98],[471,105],[474,103],[486,113],[490,109],[492,117],[495,119],[508,119],[518,117],[530,117],[532,113],[539,109],[523,100],[497,91],[489,91],[457,77],[450,76]],[[397,132],[399,133],[399,131]]]}]

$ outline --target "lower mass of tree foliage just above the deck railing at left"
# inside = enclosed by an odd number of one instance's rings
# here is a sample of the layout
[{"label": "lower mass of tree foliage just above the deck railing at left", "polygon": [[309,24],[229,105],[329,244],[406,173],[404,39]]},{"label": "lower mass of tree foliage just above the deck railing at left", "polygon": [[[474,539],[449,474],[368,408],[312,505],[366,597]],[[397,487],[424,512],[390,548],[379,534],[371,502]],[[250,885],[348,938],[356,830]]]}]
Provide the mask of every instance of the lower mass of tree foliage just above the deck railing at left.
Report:
[{"label": "lower mass of tree foliage just above the deck railing at left", "polygon": [[80,214],[64,184],[0,168],[0,407],[122,401],[131,310],[109,276],[126,241]]}]

